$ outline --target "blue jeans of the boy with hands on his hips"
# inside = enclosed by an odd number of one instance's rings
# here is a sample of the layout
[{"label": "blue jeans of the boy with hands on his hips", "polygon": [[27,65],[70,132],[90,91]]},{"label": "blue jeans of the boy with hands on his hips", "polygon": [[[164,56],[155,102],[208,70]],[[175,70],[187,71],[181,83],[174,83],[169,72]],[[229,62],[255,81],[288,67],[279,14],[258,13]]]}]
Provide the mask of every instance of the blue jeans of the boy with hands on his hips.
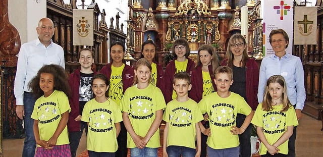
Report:
[{"label": "blue jeans of the boy with hands on his hips", "polygon": [[208,157],[239,157],[239,146],[225,149],[213,149],[207,146]]}]

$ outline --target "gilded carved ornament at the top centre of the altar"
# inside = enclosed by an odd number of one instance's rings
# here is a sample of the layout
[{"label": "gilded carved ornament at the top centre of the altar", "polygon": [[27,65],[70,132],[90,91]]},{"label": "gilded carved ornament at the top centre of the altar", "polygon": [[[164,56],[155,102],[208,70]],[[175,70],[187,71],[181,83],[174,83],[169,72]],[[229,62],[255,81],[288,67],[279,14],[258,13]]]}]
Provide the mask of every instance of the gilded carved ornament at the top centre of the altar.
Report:
[{"label": "gilded carved ornament at the top centre of the altar", "polygon": [[180,6],[178,7],[178,13],[175,13],[176,16],[178,15],[187,15],[188,11],[194,10],[199,15],[211,15],[211,12],[207,11],[208,6],[202,0],[185,0],[183,1]]}]

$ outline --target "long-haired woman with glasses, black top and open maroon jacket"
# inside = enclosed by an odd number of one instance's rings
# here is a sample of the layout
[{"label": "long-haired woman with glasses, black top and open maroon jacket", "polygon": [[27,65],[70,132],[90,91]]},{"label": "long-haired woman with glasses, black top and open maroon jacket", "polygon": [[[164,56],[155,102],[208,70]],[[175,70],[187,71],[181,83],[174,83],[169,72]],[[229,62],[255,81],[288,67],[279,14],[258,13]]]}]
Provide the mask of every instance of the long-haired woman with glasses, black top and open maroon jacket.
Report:
[{"label": "long-haired woman with glasses, black top and open maroon jacket", "polygon": [[[221,65],[228,66],[233,70],[233,83],[229,91],[239,94],[249,104],[253,111],[258,106],[257,90],[259,68],[254,59],[248,57],[247,43],[240,34],[231,36],[227,48],[226,59]],[[246,116],[237,114],[236,126],[241,127]],[[240,156],[251,156],[251,137],[252,124],[245,128],[244,133],[239,135]]]}]

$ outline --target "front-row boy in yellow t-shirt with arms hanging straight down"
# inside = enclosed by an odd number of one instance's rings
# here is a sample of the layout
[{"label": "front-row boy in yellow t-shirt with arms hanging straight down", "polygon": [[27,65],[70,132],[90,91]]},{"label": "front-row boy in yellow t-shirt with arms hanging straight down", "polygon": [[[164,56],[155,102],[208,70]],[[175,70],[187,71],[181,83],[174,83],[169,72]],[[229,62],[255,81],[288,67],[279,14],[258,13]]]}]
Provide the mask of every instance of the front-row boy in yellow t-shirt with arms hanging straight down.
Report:
[{"label": "front-row boy in yellow t-shirt with arms hanging straight down", "polygon": [[163,116],[166,121],[163,156],[200,156],[199,122],[203,116],[197,103],[188,97],[188,91],[192,88],[190,76],[186,72],[179,72],[173,80],[177,97],[167,104]]}]

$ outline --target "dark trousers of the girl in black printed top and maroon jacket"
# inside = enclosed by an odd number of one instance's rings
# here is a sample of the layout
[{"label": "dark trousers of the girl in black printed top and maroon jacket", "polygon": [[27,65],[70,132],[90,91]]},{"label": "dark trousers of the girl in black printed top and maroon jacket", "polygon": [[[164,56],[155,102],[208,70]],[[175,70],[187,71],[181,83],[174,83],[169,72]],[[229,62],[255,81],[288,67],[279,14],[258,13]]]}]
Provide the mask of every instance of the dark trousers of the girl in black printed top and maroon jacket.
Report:
[{"label": "dark trousers of the girl in black printed top and maroon jacket", "polygon": [[81,131],[69,132],[69,141],[71,147],[72,157],[76,156],[76,150],[79,147],[80,140],[83,134],[83,129],[85,129],[85,134],[87,135],[88,126],[86,122],[80,122]]}]

